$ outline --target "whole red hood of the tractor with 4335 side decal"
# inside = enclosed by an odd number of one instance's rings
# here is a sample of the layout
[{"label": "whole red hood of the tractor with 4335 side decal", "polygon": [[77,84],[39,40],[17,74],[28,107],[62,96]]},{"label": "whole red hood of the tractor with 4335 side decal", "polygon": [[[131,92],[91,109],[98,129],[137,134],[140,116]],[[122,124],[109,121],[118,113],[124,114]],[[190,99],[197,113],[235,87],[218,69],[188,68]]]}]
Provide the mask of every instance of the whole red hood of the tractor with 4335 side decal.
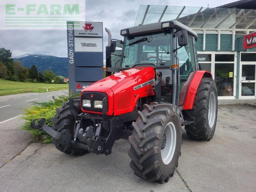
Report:
[{"label": "whole red hood of the tractor with 4335 side decal", "polygon": [[[127,69],[90,85],[82,91],[81,95],[86,94],[85,92],[88,94],[104,92],[108,95],[109,102],[107,115],[117,116],[129,113],[134,110],[139,98],[154,95],[151,85],[155,82],[155,76],[153,67]],[[82,109],[83,112],[92,113],[96,113],[95,110]]]}]

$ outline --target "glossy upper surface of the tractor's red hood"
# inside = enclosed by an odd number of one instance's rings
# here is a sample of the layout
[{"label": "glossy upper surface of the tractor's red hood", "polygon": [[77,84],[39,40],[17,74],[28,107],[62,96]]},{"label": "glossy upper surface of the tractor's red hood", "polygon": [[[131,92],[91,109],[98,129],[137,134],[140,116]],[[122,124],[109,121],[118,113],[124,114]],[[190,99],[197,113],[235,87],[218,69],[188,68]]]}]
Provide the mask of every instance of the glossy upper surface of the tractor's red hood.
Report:
[{"label": "glossy upper surface of the tractor's red hood", "polygon": [[[118,84],[124,85],[123,88],[129,87],[129,84],[136,85],[144,83],[155,78],[155,70],[153,67],[138,67],[120,71],[114,75],[108,76],[96,83],[90,85],[88,88],[116,88],[120,87]],[[87,91],[86,88],[84,91]],[[112,90],[113,91],[113,90]]]}]

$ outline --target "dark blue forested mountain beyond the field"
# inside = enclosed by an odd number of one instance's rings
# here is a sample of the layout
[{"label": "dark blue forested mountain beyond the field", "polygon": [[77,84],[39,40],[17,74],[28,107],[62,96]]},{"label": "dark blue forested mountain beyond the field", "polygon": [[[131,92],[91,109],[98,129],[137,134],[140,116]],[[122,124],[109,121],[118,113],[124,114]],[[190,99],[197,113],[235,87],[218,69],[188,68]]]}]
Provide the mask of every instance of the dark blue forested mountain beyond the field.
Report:
[{"label": "dark blue forested mountain beyond the field", "polygon": [[[28,55],[28,54],[26,54]],[[41,73],[45,70],[51,70],[58,76],[68,76],[68,58],[67,57],[55,57],[51,55],[28,55],[25,57],[14,58],[19,60],[24,67],[31,68],[32,65],[36,65],[36,68]]]}]

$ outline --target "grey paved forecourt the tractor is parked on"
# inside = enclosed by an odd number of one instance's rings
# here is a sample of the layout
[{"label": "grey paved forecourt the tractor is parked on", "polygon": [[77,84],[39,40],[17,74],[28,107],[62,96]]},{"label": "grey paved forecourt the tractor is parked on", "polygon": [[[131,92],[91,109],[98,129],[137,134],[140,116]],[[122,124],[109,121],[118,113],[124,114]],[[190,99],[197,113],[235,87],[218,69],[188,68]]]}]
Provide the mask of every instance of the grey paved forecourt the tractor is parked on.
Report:
[{"label": "grey paved forecourt the tractor is parked on", "polygon": [[[256,108],[219,106],[216,132],[210,142],[192,140],[184,131],[179,166],[163,185],[133,174],[127,140],[116,141],[109,156],[90,153],[78,157],[61,153],[53,144],[32,143],[20,155],[14,153],[13,157],[17,156],[1,167],[1,191],[253,192],[256,190],[255,116]],[[0,124],[1,132],[8,126]],[[0,140],[6,140],[1,143],[2,148],[19,145],[12,142],[11,136]]]}]

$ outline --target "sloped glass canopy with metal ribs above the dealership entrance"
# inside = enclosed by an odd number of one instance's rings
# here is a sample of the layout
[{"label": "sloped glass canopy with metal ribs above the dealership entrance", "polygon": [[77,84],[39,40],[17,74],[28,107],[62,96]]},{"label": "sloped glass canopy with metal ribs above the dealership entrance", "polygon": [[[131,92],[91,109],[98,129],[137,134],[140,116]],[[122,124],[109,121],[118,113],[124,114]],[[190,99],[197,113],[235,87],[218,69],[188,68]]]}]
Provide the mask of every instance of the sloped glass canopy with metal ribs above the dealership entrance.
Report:
[{"label": "sloped glass canopy with metal ribs above the dealership entrance", "polygon": [[256,29],[256,10],[140,5],[134,26],[178,20],[190,28]]}]

